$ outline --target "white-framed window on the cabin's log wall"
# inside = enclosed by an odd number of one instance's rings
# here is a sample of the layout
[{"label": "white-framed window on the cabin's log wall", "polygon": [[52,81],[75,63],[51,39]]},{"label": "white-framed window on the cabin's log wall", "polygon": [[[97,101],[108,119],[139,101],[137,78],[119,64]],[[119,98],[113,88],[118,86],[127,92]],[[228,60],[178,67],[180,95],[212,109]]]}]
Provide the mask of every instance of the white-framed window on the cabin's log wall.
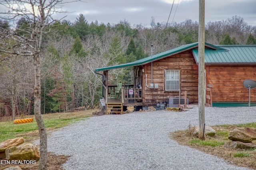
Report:
[{"label": "white-framed window on the cabin's log wall", "polygon": [[180,70],[165,70],[165,90],[180,89]]}]

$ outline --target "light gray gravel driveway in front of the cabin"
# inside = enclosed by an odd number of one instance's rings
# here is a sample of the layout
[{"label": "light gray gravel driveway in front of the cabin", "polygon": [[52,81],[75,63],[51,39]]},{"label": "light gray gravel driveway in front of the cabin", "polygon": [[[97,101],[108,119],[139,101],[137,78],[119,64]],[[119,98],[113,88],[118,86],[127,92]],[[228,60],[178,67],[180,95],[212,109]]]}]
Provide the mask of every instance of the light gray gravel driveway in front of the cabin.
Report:
[{"label": "light gray gravel driveway in front of the cabin", "polygon": [[[256,107],[206,107],[206,126],[256,122]],[[48,151],[70,155],[65,170],[245,170],[181,146],[172,131],[198,126],[198,107],[102,115],[52,133]]]}]

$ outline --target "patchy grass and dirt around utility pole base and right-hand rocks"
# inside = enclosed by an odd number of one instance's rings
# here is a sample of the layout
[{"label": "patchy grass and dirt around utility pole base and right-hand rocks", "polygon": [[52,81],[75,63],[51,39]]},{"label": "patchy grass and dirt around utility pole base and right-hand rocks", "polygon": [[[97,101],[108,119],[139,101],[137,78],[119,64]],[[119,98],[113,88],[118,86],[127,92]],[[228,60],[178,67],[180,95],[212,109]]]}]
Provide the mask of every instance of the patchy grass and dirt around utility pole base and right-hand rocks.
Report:
[{"label": "patchy grass and dirt around utility pole base and right-hand rocks", "polygon": [[[228,125],[228,126],[212,126],[212,128],[216,131],[216,135],[214,137],[206,136],[206,141],[214,140],[218,142],[230,142],[228,139],[229,131],[235,129],[237,126]],[[226,135],[223,135],[226,134]],[[193,137],[191,132],[188,130],[184,131],[176,131],[170,133],[170,138],[177,141],[180,145],[185,145],[207,154],[212,154],[218,156],[219,158],[223,158],[228,160],[231,164],[235,164],[237,166],[244,166],[247,168],[252,168],[256,170],[256,149],[231,149],[223,147],[224,145],[220,145],[217,147],[200,145],[198,143],[191,143],[192,140],[198,139],[197,137]],[[254,141],[255,143],[255,141]],[[235,156],[237,153],[245,153],[247,156]]]}]

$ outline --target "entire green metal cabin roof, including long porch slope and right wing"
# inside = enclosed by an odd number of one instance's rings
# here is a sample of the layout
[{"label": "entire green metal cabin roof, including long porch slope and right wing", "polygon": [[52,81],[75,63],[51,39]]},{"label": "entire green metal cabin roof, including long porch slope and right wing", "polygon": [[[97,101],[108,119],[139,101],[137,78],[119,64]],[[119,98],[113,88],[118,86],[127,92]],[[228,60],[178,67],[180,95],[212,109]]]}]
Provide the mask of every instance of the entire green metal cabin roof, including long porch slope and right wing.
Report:
[{"label": "entire green metal cabin roof, including long porch slope and right wing", "polygon": [[[212,45],[205,43],[205,46],[205,63],[256,63],[256,45]],[[194,53],[194,57],[198,63],[197,47],[198,43],[182,45],[180,47],[170,49],[168,51],[153,55],[152,57],[149,56],[132,63],[96,68],[95,71],[143,65],[180,53],[182,51],[186,51],[188,49],[193,49],[192,51]]]}]

